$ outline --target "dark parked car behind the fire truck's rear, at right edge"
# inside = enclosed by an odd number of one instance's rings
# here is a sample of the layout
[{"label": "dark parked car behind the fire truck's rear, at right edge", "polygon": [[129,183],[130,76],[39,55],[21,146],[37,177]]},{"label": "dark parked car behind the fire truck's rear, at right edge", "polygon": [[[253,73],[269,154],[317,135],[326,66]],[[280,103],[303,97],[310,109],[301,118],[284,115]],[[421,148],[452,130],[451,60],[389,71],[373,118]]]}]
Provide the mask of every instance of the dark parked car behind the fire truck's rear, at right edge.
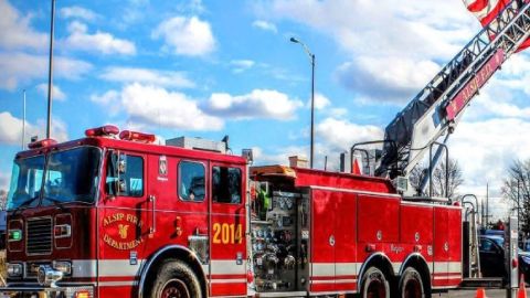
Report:
[{"label": "dark parked car behind the fire truck's rear, at right edge", "polygon": [[[483,277],[507,277],[505,267],[505,238],[498,235],[480,235],[479,237],[480,270]],[[519,249],[519,274],[530,283],[530,252]]]}]

